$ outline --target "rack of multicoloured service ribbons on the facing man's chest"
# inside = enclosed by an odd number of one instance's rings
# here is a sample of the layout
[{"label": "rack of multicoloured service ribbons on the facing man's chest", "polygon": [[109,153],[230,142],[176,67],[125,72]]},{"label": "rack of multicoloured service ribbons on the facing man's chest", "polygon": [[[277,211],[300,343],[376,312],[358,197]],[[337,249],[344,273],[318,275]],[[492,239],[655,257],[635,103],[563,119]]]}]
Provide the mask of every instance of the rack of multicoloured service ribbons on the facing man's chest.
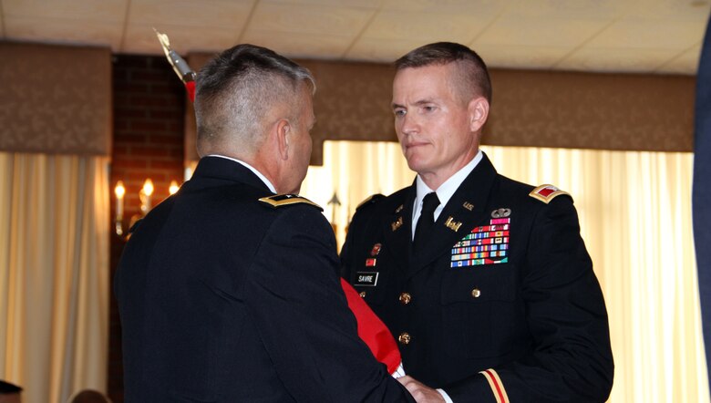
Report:
[{"label": "rack of multicoloured service ribbons on the facing man's chest", "polygon": [[489,225],[471,230],[471,233],[452,247],[449,267],[509,262],[510,224],[510,218],[493,218],[489,221]]}]

